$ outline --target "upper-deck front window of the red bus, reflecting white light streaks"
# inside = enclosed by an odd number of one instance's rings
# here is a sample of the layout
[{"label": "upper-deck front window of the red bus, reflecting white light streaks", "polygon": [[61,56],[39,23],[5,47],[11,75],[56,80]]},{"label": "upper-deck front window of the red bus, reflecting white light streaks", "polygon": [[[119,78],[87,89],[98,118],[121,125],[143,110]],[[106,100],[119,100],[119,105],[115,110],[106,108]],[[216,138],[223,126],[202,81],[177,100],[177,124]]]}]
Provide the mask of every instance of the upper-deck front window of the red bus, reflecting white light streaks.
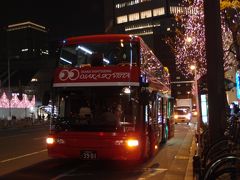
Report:
[{"label": "upper-deck front window of the red bus, reflecting white light streaks", "polygon": [[138,64],[137,43],[107,42],[80,43],[62,48],[59,66],[82,67],[86,65]]}]

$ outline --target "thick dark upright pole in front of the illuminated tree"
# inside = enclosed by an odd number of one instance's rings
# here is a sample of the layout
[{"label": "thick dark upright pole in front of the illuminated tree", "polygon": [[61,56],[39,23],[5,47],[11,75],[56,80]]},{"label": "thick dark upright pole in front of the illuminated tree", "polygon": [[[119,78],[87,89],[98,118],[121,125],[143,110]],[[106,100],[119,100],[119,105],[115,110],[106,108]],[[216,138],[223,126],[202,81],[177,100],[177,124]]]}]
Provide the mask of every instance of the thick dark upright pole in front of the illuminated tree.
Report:
[{"label": "thick dark upright pole in front of the illuminated tree", "polygon": [[226,127],[223,47],[221,35],[220,0],[204,0],[209,140],[223,137]]}]

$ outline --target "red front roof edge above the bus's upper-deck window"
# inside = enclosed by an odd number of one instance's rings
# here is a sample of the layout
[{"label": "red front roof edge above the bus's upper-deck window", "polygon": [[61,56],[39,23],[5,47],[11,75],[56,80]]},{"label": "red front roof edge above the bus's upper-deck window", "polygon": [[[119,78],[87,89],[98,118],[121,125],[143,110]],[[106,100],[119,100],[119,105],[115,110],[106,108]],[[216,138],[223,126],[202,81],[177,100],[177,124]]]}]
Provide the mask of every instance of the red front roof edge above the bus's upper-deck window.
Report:
[{"label": "red front roof edge above the bus's upper-deck window", "polygon": [[64,40],[65,45],[89,42],[115,42],[115,41],[135,41],[139,42],[141,37],[129,34],[98,34],[87,36],[76,36]]}]

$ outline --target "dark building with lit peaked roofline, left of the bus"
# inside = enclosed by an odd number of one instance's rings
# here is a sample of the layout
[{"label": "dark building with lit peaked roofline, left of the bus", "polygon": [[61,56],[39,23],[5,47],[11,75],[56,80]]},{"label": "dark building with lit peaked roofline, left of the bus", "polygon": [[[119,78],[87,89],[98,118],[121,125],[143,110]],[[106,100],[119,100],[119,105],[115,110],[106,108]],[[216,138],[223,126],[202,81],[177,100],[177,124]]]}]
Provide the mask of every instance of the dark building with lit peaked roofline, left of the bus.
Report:
[{"label": "dark building with lit peaked roofline, left of the bus", "polygon": [[6,33],[9,57],[29,59],[48,54],[46,27],[27,21],[8,25]]}]

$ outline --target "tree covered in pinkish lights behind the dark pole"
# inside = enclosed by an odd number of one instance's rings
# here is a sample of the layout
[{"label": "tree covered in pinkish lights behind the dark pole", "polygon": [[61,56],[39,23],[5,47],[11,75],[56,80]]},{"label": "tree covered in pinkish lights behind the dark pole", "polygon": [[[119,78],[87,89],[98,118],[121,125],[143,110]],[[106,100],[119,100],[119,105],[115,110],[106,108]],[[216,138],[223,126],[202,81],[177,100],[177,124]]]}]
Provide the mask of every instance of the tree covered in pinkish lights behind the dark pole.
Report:
[{"label": "tree covered in pinkish lights behind the dark pole", "polygon": [[[232,46],[231,30],[222,15],[222,39],[224,49],[224,68],[236,65],[235,50]],[[206,74],[206,50],[203,0],[194,0],[187,14],[177,16],[179,28],[174,43],[176,66],[185,76],[192,75],[191,65],[196,65],[198,77]],[[168,41],[169,43],[169,41]]]}]

